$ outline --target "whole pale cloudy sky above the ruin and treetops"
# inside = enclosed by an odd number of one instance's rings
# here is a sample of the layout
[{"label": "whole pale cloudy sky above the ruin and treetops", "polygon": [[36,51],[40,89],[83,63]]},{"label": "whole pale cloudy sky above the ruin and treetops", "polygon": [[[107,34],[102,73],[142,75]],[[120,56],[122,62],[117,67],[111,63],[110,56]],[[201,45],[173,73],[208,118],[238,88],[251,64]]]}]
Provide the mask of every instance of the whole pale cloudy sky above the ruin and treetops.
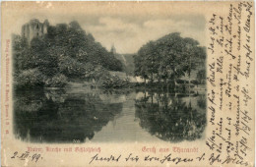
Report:
[{"label": "whole pale cloudy sky above the ruin and treetops", "polygon": [[[24,21],[47,19],[50,25],[77,21],[86,32],[94,35],[97,42],[110,50],[114,45],[117,53],[136,53],[150,40],[159,39],[171,32],[180,32],[183,37],[192,37],[200,45],[206,45],[206,21],[202,15],[56,15],[35,14],[24,17]],[[22,25],[21,25],[22,27]],[[19,31],[21,33],[21,31]]]}]

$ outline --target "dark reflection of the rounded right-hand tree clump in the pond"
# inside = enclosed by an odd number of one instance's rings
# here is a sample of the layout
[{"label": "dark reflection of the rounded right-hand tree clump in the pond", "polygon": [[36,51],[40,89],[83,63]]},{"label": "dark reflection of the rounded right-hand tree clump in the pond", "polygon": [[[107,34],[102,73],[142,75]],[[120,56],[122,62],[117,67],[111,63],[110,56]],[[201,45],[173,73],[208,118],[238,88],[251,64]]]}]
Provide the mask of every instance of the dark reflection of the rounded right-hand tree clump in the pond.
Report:
[{"label": "dark reflection of the rounded right-hand tree clump in the pond", "polygon": [[[153,100],[155,97],[156,101]],[[201,99],[202,100],[202,99]],[[200,139],[206,126],[206,112],[200,113],[182,98],[158,94],[136,100],[140,126],[163,140]]]}]

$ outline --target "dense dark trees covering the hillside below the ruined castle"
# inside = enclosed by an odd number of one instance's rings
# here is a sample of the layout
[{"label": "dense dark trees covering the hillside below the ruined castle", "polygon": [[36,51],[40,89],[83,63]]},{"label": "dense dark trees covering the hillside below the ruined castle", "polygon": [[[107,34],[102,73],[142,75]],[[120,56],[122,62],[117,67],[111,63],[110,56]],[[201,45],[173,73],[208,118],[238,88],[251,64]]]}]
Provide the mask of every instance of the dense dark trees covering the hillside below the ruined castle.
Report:
[{"label": "dense dark trees covering the hillside below the ruined castle", "polygon": [[121,62],[77,22],[49,26],[32,41],[14,35],[13,51],[15,82],[20,85],[61,86],[67,80],[96,80],[105,71],[122,71]]}]

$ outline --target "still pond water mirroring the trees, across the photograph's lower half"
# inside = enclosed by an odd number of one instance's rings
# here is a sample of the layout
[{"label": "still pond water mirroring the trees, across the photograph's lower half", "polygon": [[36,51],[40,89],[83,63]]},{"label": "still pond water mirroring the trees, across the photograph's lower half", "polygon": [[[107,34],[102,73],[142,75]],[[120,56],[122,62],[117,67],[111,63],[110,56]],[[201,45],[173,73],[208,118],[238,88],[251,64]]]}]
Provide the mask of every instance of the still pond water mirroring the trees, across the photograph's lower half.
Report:
[{"label": "still pond water mirroring the trees, across the photograph's lower half", "polygon": [[14,132],[30,142],[203,139],[205,90],[102,91],[83,87],[17,90]]}]

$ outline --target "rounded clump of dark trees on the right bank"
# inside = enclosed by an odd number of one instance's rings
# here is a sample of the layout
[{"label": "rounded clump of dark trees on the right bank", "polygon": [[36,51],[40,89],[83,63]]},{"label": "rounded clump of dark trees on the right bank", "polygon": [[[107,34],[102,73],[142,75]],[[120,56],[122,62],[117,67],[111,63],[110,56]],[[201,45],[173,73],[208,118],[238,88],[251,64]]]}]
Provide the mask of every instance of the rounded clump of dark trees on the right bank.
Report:
[{"label": "rounded clump of dark trees on the right bank", "polygon": [[[205,60],[206,49],[197,40],[170,33],[140,48],[134,56],[135,76],[175,84],[185,74],[190,78],[192,70],[205,69]],[[203,80],[204,72],[200,73],[198,79]]]}]

